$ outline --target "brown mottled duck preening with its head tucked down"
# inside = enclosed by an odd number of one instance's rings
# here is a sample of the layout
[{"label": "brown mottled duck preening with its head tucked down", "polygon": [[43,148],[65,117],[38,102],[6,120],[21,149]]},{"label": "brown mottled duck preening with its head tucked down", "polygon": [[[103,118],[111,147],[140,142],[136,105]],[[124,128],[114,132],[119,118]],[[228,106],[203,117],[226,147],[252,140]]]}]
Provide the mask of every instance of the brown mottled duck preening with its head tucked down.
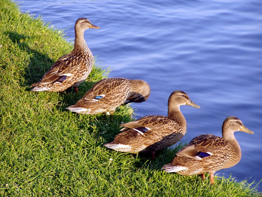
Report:
[{"label": "brown mottled duck preening with its head tucked down", "polygon": [[96,82],[83,98],[67,109],[82,114],[112,112],[122,104],[144,102],[149,94],[150,87],[143,80],[106,78]]}]

